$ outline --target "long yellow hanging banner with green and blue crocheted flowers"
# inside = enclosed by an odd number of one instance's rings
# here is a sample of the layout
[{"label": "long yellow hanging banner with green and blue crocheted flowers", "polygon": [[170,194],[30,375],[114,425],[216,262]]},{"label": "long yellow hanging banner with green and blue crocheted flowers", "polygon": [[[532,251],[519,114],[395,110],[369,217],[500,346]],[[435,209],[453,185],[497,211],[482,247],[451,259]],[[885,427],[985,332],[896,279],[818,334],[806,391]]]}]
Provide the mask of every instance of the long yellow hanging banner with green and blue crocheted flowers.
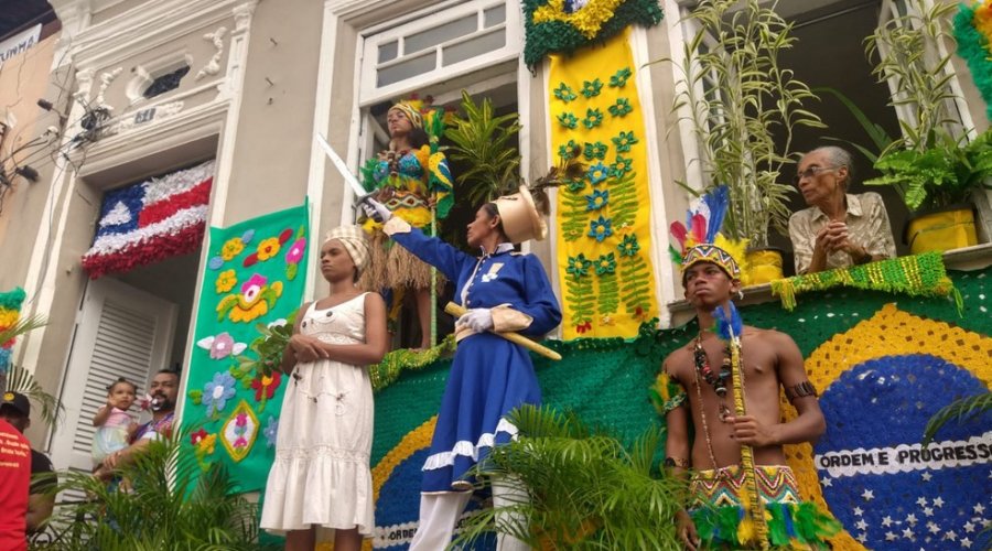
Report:
[{"label": "long yellow hanging banner with green and blue crocheted flowers", "polygon": [[563,337],[637,336],[657,315],[650,263],[646,136],[629,31],[572,56],[551,55],[551,147],[585,177],[558,194]]}]

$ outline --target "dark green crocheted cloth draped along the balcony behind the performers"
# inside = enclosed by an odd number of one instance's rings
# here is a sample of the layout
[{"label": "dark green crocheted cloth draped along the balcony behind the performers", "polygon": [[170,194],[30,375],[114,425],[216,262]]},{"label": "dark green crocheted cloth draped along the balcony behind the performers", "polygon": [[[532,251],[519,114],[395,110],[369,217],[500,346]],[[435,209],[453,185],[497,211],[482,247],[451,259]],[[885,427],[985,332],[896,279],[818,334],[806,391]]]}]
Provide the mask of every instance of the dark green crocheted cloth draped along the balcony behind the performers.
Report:
[{"label": "dark green crocheted cloth draped along the balcony behind the performers", "polygon": [[[891,302],[914,315],[947,321],[982,335],[992,334],[992,316],[981,310],[988,311],[992,298],[992,268],[950,271],[948,276],[963,299],[963,316],[958,315],[953,301],[946,298],[907,298],[844,288],[811,291],[792,312],[785,311],[777,302],[768,302],[744,306],[741,314],[748,325],[788,333],[804,357]],[[571,409],[589,423],[614,426],[627,439],[636,437],[650,425],[660,430],[661,420],[651,406],[648,390],[661,360],[694,338],[697,332],[696,322],[691,322],[661,332],[643,327],[640,335],[629,342],[622,338],[546,342],[563,358],[560,361],[533,358],[543,401]],[[438,412],[449,367],[450,359],[441,359],[421,370],[405,371],[395,383],[376,395],[373,466],[403,435]]]}]

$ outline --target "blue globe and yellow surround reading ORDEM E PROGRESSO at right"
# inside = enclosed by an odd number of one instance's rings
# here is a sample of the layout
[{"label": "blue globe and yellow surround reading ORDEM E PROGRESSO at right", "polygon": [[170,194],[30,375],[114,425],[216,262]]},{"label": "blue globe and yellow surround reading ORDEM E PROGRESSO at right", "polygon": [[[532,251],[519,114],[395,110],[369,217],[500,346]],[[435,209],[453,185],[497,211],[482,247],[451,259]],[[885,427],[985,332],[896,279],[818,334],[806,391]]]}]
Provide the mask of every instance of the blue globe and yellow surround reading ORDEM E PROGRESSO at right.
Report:
[{"label": "blue globe and yellow surround reading ORDEM E PROGRESSO at right", "polygon": [[992,414],[948,424],[926,449],[919,441],[940,408],[989,391],[990,357],[989,336],[895,304],[809,356],[827,433],[786,452],[802,497],[847,529],[833,549],[989,549],[979,532],[992,521]]}]

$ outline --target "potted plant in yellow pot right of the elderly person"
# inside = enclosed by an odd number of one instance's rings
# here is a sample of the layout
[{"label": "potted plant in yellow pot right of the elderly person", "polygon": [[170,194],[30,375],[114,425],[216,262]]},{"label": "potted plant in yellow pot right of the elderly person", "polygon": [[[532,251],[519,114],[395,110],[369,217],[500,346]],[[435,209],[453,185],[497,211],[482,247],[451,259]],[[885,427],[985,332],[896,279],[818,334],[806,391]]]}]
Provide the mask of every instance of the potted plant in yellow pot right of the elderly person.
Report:
[{"label": "potted plant in yellow pot right of the elderly person", "polygon": [[953,43],[944,21],[955,4],[912,0],[867,37],[865,52],[877,56],[874,74],[894,90],[889,105],[901,111],[903,138],[875,161],[882,175],[866,185],[892,185],[915,213],[905,238],[914,253],[947,250],[978,242],[971,197],[992,188],[992,138],[989,132],[968,142],[953,114],[957,98],[947,73]]}]

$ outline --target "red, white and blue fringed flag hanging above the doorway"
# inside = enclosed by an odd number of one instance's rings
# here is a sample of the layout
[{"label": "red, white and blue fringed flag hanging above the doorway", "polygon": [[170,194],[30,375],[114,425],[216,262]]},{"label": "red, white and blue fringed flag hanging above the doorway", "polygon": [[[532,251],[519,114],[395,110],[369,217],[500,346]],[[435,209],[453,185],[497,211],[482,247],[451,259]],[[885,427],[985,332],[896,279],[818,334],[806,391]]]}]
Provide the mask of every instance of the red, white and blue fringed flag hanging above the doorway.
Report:
[{"label": "red, white and blue fringed flag hanging above the doorway", "polygon": [[214,161],[107,192],[83,268],[93,279],[200,247]]}]

